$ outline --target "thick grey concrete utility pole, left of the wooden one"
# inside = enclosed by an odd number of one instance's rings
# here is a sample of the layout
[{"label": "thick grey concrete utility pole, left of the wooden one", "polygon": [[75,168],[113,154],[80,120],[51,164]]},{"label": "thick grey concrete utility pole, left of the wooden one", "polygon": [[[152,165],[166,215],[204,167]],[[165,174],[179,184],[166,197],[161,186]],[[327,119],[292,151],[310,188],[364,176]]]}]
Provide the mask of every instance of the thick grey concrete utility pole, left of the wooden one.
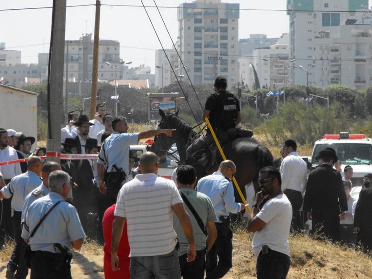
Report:
[{"label": "thick grey concrete utility pole, left of the wooden one", "polygon": [[[53,1],[48,71],[48,151],[61,150],[66,0]],[[52,158],[60,163],[60,158]]]}]

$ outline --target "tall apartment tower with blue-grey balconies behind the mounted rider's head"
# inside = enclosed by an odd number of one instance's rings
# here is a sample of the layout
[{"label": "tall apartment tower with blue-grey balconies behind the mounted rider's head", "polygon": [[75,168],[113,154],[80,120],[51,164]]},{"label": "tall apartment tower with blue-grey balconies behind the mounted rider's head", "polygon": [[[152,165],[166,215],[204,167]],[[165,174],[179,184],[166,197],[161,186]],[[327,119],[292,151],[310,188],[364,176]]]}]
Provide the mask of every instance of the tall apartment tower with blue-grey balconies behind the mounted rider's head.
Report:
[{"label": "tall apartment tower with blue-grey balconies behind the mounted rider's head", "polygon": [[239,6],[221,0],[180,4],[177,48],[193,84],[211,84],[216,76],[224,76],[230,88],[240,80]]}]

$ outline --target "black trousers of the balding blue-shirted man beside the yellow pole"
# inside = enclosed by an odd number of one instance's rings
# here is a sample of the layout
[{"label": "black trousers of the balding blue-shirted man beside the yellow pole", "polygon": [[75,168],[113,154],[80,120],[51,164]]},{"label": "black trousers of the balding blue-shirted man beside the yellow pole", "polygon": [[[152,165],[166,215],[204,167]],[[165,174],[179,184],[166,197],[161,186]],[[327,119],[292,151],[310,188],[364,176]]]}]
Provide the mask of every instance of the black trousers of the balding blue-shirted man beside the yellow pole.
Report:
[{"label": "black trousers of the balding blue-shirted man beside the yellow pole", "polygon": [[232,231],[229,229],[227,235],[222,235],[222,223],[215,224],[217,238],[206,256],[206,279],[222,278],[232,267]]}]

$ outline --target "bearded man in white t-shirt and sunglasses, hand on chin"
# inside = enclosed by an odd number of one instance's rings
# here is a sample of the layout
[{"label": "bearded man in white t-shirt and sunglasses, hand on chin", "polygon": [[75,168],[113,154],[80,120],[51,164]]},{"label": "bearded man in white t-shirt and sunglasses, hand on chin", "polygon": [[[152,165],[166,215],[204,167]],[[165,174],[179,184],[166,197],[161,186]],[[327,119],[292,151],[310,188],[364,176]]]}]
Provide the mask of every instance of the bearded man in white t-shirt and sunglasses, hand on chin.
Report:
[{"label": "bearded man in white t-shirt and sunglasses, hand on chin", "polygon": [[[252,250],[257,258],[257,279],[286,278],[291,264],[289,228],[292,205],[282,192],[282,178],[275,167],[259,173],[261,191],[257,193],[248,218],[248,231],[254,232]],[[259,210],[264,199],[269,199]]]}]

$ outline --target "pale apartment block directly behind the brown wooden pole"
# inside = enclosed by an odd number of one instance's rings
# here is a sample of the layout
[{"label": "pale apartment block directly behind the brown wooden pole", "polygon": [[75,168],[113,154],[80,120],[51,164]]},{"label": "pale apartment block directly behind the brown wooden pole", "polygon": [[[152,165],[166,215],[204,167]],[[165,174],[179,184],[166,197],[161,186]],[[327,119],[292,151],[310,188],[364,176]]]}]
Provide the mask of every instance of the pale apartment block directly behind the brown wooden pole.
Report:
[{"label": "pale apartment block directly behind the brown wooden pole", "polygon": [[[66,78],[66,65],[68,65],[68,78],[76,78],[76,80],[82,81],[92,79],[92,34],[85,34],[85,36],[82,36],[78,40],[65,41],[64,56],[64,78]],[[118,41],[99,40],[98,78],[100,80],[122,79],[123,69],[117,68],[115,70],[113,67],[106,64],[106,62],[109,62],[114,67],[123,63],[120,59],[120,43]]]}]

